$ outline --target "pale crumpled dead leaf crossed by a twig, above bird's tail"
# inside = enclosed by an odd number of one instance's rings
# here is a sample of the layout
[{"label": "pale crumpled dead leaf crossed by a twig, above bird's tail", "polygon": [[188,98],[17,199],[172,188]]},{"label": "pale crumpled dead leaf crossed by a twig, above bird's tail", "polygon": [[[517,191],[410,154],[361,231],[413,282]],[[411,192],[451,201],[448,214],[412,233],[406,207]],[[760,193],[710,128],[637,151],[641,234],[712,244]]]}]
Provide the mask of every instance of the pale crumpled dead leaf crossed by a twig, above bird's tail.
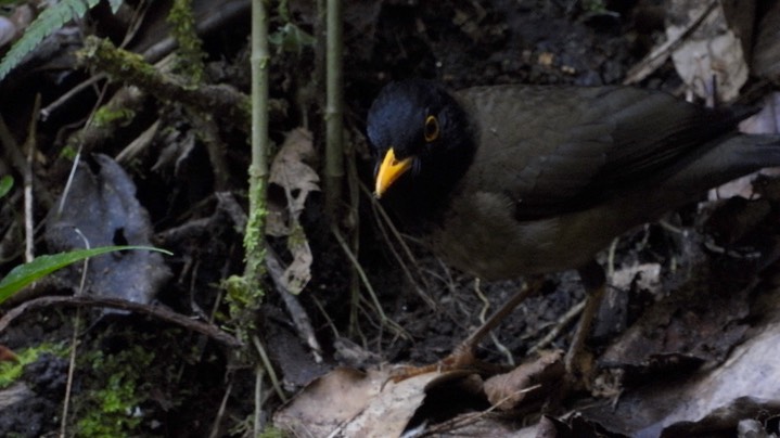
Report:
[{"label": "pale crumpled dead leaf crossed by a twig, above bird's tail", "polygon": [[723,4],[711,0],[670,0],[666,36],[677,39],[696,17],[712,8],[702,24],[672,53],[677,73],[703,99],[718,102],[737,98],[747,80],[741,29],[730,26]]}]

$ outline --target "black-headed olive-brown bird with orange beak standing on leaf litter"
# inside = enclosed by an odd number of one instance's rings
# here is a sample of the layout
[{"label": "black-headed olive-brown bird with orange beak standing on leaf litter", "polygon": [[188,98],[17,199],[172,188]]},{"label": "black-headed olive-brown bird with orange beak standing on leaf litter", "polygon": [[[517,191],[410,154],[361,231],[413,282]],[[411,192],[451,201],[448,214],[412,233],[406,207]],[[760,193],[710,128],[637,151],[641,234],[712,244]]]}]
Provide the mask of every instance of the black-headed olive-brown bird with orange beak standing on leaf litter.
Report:
[{"label": "black-headed olive-brown bird with orange beak standing on leaf litter", "polygon": [[[589,294],[566,368],[583,377],[605,284],[596,255],[712,188],[780,166],[780,137],[738,131],[753,113],[630,86],[453,91],[408,79],[379,92],[366,130],[375,197],[449,266],[484,280],[577,270]],[[451,363],[472,359],[529,293],[456,348]]]}]

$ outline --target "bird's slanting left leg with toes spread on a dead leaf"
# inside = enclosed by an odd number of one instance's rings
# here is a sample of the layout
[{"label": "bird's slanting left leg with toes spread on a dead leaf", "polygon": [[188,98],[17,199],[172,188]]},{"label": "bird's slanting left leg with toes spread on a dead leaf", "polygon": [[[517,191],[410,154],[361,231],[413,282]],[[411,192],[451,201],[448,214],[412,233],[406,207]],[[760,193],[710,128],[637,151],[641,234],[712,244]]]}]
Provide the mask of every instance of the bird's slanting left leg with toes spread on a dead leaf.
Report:
[{"label": "bird's slanting left leg with toes spread on a dead leaf", "polygon": [[503,371],[500,366],[490,365],[476,359],[475,350],[482,339],[487,336],[501,321],[526,298],[535,294],[541,288],[544,278],[535,275],[526,282],[523,287],[504,302],[490,318],[485,321],[479,328],[473,332],[460,345],[458,345],[449,356],[442,359],[438,363],[424,366],[407,366],[400,373],[392,377],[395,382],[405,381],[407,378],[431,373],[435,371],[457,371],[457,370],[481,370],[489,373]]}]

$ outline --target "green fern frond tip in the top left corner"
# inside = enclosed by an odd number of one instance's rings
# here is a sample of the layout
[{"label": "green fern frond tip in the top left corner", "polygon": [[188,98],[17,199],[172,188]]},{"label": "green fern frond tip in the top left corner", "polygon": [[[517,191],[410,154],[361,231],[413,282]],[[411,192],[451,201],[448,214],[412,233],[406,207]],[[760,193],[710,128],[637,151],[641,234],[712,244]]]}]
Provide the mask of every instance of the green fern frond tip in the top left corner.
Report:
[{"label": "green fern frond tip in the top left corner", "polygon": [[87,11],[94,8],[99,2],[100,0],[63,0],[41,12],[30,23],[24,36],[13,44],[5,57],[0,61],[0,80],[17,66],[24,56],[31,52],[43,38],[53,34],[71,20],[84,16]]}]

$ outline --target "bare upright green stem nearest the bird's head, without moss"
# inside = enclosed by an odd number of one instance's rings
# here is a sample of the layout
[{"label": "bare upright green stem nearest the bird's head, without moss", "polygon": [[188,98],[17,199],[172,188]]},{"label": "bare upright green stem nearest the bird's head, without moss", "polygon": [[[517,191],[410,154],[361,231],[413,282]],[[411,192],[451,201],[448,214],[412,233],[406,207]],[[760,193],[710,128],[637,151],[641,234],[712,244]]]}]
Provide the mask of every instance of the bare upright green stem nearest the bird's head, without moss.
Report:
[{"label": "bare upright green stem nearest the bird's head, without moss", "polygon": [[328,0],[325,102],[325,208],[336,219],[344,179],[342,0]]}]

